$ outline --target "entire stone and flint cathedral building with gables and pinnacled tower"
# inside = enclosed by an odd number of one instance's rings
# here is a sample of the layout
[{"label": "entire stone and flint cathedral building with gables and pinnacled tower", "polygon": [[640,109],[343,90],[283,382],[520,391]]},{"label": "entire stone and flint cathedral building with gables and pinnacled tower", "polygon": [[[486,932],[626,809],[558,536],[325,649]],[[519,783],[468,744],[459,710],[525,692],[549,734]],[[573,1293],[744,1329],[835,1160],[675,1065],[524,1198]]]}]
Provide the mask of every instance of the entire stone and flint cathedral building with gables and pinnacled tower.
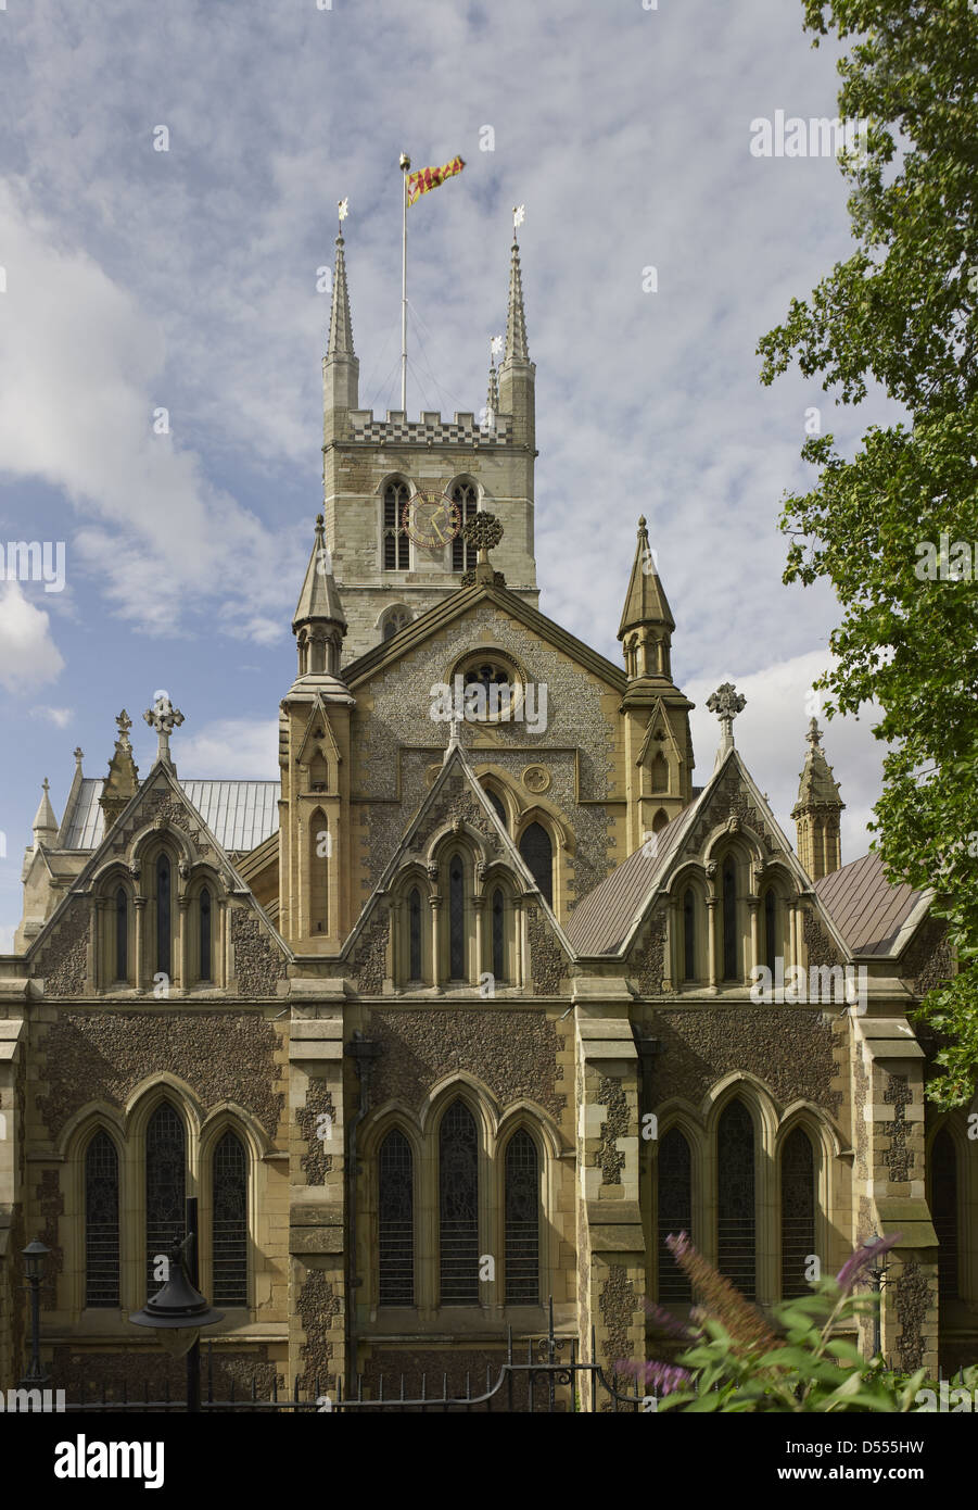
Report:
[{"label": "entire stone and flint cathedral building with gables and pinnacled tower", "polygon": [[[940,926],[872,855],[842,864],[813,725],[797,849],[729,686],[694,784],[644,519],[620,663],[540,612],[518,246],[478,421],[359,408],[341,239],[323,370],[278,773],[178,775],[160,695],[148,772],[121,714],[60,817],[45,781],[0,959],[0,1386],[33,1237],[53,1380],[160,1379],[128,1315],[190,1194],[219,1391],[460,1389],[551,1297],[613,1368],[646,1353],[644,1297],[690,1303],[676,1231],[761,1305],[900,1232],[883,1351],[973,1362],[966,1117],[925,1105],[909,1021],[954,968]],[[457,533],[426,539],[418,498]],[[753,1000],[756,966],[794,989]]]}]

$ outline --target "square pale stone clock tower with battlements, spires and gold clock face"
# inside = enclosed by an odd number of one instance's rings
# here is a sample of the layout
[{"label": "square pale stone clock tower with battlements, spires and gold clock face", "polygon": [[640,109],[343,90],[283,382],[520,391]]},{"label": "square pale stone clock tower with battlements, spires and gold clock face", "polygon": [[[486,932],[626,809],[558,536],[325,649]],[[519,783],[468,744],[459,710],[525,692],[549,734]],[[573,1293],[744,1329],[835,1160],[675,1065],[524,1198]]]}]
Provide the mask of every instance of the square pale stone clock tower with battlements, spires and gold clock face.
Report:
[{"label": "square pale stone clock tower with battlements, spires and gold clock face", "polygon": [[[349,663],[462,586],[475,553],[460,530],[477,510],[495,513],[506,528],[494,565],[510,592],[536,607],[539,590],[533,556],[536,367],[527,344],[516,239],[503,364],[498,374],[491,364],[489,402],[478,418],[460,412],[442,420],[436,411],[423,411],[409,420],[389,409],[377,420],[359,408],[344,252],[338,236],[323,361],[323,513],[347,615]],[[414,532],[421,541],[412,538],[404,507],[417,494],[456,504],[460,530],[454,539],[432,547],[424,530]]]}]

